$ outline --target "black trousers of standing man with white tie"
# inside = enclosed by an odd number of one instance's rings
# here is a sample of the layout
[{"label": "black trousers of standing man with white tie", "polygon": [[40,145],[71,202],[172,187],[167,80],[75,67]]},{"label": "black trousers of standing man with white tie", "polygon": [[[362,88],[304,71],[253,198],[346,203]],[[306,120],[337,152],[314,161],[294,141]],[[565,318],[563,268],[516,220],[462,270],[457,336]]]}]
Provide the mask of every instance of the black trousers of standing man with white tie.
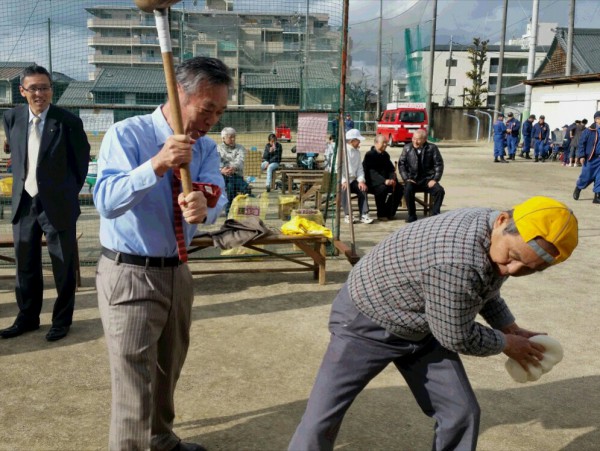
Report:
[{"label": "black trousers of standing man with white tie", "polygon": [[44,284],[42,277],[42,233],[46,235],[48,253],[58,296],[52,311],[52,325],[70,326],[75,308],[75,249],[76,227],[56,230],[48,221],[39,197],[33,199],[23,193],[13,224],[17,277],[15,294],[19,313],[15,323],[36,326],[40,312]]}]

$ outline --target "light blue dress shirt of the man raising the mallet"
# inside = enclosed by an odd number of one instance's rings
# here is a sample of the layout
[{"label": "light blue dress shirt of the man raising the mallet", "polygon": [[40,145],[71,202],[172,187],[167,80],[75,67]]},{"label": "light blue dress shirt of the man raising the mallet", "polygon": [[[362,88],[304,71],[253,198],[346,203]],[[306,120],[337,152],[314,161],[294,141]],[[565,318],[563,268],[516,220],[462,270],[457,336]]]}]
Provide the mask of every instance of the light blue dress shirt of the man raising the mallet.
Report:
[{"label": "light blue dress shirt of the man raising the mallet", "polygon": [[[106,132],[98,158],[94,204],[100,213],[100,243],[115,252],[144,257],[177,256],[171,184],[173,171],[158,177],[150,159],[173,134],[159,106],[152,114],[114,124]],[[215,142],[201,137],[193,148],[190,174],[193,182],[219,185],[219,153]],[[213,224],[227,203],[221,195],[208,209]],[[189,246],[197,226],[183,221]]]}]

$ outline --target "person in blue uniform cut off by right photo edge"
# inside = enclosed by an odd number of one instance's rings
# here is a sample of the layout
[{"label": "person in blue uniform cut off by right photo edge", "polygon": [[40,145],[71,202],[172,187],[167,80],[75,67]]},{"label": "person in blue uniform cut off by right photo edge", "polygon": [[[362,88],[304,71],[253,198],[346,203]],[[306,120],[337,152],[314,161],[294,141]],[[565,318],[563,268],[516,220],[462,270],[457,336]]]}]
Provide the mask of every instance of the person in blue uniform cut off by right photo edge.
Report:
[{"label": "person in blue uniform cut off by right photo edge", "polygon": [[595,204],[600,204],[600,111],[594,114],[594,123],[586,128],[579,138],[577,159],[583,164],[577,179],[573,199],[579,199],[579,193],[594,184]]}]

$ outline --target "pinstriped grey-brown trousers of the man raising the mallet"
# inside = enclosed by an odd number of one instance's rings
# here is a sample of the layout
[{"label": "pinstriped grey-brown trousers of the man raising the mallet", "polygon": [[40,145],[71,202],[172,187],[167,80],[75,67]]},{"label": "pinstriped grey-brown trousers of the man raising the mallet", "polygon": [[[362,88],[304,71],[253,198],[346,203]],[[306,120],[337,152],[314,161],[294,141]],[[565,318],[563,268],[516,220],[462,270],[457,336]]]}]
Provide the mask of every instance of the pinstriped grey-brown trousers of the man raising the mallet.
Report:
[{"label": "pinstriped grey-brown trousers of the man raising the mallet", "polygon": [[112,382],[109,449],[170,450],[179,443],[173,392],[194,300],[188,265],[145,268],[102,256],[96,287]]}]

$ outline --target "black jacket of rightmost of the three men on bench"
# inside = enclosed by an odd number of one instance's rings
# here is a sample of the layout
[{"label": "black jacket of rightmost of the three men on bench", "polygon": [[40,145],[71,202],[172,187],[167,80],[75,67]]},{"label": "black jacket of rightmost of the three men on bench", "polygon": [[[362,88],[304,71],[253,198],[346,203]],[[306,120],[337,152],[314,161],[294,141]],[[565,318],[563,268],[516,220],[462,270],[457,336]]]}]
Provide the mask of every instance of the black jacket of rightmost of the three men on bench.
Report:
[{"label": "black jacket of rightmost of the three men on bench", "polygon": [[[422,162],[421,173],[419,173],[419,158]],[[400,160],[398,160],[398,170],[405,182],[407,180],[414,180],[417,183],[429,180],[439,182],[444,173],[444,160],[435,144],[426,142],[419,156],[412,143],[409,143],[402,149]]]}]

